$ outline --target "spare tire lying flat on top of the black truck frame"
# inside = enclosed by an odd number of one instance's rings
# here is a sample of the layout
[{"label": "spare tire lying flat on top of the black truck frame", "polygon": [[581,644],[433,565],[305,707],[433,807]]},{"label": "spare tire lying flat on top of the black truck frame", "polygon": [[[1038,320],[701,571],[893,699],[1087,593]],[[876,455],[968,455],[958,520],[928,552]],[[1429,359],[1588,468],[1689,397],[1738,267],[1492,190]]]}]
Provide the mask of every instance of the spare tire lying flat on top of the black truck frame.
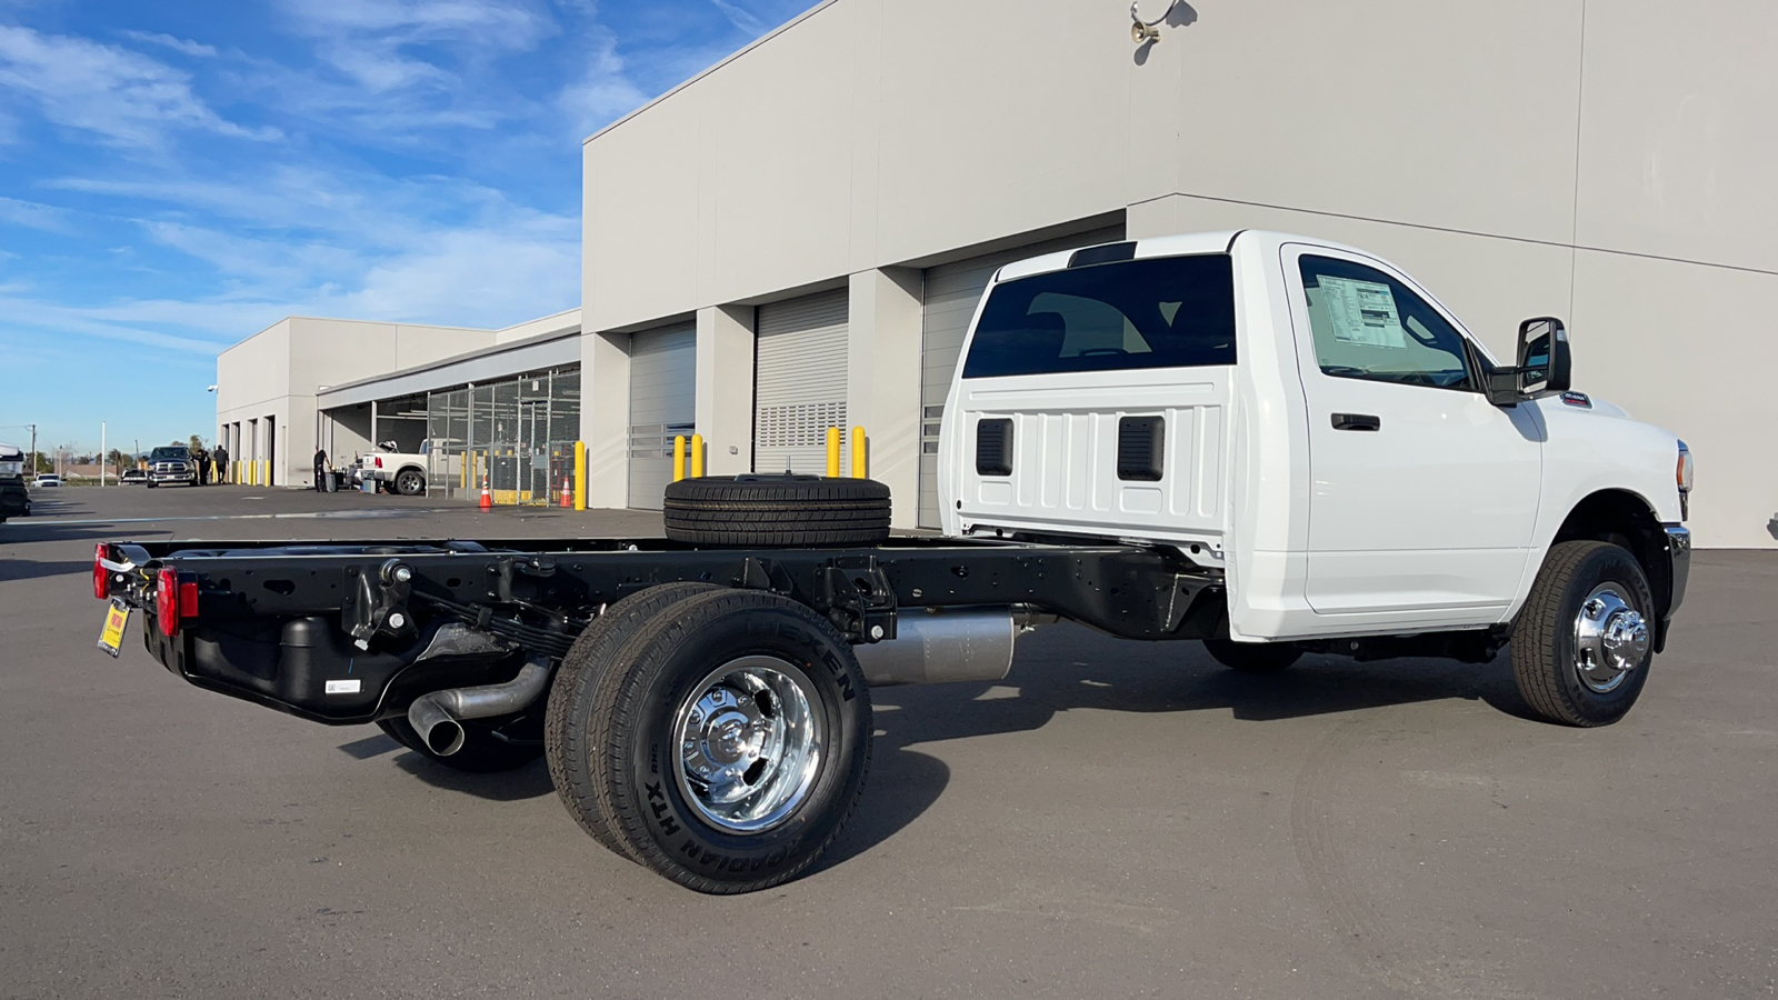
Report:
[{"label": "spare tire lying flat on top of the black truck frame", "polygon": [[877,544],[889,488],[875,479],[706,475],[667,484],[667,537],[725,548]]}]

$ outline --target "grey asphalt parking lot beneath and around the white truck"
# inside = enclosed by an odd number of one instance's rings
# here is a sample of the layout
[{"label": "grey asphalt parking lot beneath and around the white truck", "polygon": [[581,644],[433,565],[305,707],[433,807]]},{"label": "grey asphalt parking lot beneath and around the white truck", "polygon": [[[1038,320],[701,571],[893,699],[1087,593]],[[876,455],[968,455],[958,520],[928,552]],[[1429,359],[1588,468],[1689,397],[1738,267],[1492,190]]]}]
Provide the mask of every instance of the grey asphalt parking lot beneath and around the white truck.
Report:
[{"label": "grey asphalt parking lot beneath and around the white truck", "polygon": [[0,525],[4,996],[1767,996],[1778,555],[1700,552],[1606,730],[1504,658],[1056,626],[994,685],[880,689],[820,868],[738,899],[587,838],[539,762],[466,776],[94,648],[96,539],[658,534],[265,488],[64,489]]}]

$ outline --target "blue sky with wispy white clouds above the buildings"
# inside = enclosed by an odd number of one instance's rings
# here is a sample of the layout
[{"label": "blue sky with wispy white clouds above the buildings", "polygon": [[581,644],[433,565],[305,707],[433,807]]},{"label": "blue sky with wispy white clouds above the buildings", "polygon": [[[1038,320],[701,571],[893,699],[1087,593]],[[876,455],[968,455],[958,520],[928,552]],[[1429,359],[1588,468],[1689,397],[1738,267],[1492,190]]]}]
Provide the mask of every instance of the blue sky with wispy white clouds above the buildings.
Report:
[{"label": "blue sky with wispy white clouds above the buildings", "polygon": [[580,301],[580,142],[813,0],[0,0],[0,441],[215,432],[286,315]]}]

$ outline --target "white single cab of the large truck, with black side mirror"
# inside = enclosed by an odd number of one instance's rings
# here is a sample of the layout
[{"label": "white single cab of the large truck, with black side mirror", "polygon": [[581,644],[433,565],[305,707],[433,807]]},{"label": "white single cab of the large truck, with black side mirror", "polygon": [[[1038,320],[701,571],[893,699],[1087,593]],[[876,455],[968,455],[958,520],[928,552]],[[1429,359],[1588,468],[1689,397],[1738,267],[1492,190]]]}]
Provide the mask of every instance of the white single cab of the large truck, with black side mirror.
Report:
[{"label": "white single cab of the large truck, with black side mirror", "polygon": [[1054,253],[989,283],[941,436],[946,534],[1163,544],[1229,639],[1504,628],[1550,548],[1641,564],[1655,617],[1691,459],[1568,386],[1559,320],[1495,359],[1399,267],[1264,231]]}]

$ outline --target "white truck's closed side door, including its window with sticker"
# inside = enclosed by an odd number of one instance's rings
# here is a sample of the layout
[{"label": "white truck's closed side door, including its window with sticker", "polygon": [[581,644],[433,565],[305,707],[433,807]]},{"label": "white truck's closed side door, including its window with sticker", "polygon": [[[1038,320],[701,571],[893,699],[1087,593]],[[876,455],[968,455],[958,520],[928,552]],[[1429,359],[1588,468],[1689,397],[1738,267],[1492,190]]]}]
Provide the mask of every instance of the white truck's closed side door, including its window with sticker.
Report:
[{"label": "white truck's closed side door, including its window with sticker", "polygon": [[1499,621],[1538,511],[1536,407],[1492,406],[1479,351],[1382,262],[1282,256],[1309,415],[1309,607],[1350,626]]}]

